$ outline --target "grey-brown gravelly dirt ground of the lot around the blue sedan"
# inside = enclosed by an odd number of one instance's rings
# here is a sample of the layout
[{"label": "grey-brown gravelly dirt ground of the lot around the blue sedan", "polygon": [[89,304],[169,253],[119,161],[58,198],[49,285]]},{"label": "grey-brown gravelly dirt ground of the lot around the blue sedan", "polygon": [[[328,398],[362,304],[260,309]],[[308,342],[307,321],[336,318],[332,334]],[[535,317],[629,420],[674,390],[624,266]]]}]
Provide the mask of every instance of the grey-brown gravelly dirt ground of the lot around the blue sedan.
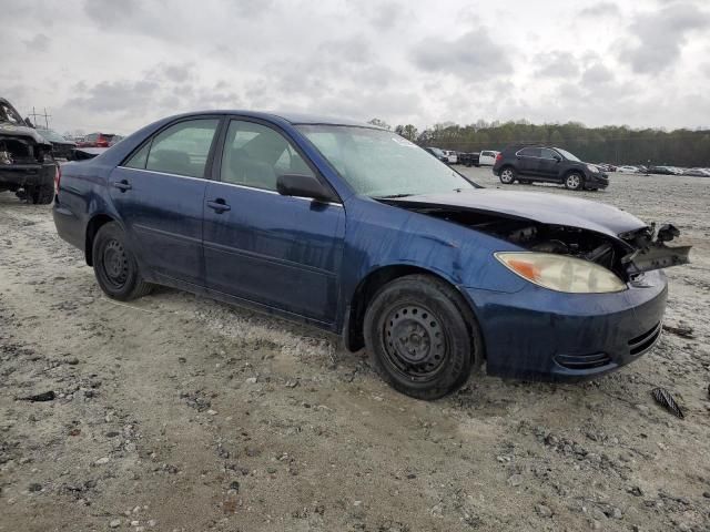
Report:
[{"label": "grey-brown gravelly dirt ground of the lot around the blue sedan", "polygon": [[676,331],[592,382],[478,375],[429,403],[306,327],[109,300],[50,207],[0,194],[0,531],[710,530],[710,180],[611,182],[515,188],[676,224]]}]

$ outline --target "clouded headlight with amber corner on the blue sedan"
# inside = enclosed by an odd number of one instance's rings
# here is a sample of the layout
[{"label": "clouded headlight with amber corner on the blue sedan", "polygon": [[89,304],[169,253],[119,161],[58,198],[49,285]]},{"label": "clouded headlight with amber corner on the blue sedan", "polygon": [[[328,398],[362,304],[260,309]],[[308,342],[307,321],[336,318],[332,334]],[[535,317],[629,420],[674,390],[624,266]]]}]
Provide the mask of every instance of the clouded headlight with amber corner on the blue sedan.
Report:
[{"label": "clouded headlight with amber corner on the blue sedan", "polygon": [[551,253],[499,252],[496,258],[510,272],[550,290],[605,294],[626,290],[626,284],[604,266]]}]

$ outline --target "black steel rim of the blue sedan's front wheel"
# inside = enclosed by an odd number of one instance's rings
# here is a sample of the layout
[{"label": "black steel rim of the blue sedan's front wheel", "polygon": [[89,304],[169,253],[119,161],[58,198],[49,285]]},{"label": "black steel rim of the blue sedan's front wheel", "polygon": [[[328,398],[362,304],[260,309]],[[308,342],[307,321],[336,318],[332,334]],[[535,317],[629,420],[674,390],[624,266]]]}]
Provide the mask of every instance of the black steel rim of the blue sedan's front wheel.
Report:
[{"label": "black steel rim of the blue sedan's front wheel", "polygon": [[410,380],[428,380],[443,367],[446,340],[442,324],[419,305],[389,311],[384,344],[388,362]]}]

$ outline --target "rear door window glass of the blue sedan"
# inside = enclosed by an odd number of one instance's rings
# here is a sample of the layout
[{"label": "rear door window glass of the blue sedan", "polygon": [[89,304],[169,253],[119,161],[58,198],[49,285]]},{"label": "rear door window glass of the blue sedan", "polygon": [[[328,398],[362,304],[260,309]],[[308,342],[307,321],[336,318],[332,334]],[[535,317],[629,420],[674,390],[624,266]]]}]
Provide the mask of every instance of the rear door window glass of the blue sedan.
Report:
[{"label": "rear door window glass of the blue sedan", "polygon": [[153,139],[145,170],[204,177],[219,123],[217,119],[190,120],[162,131]]}]

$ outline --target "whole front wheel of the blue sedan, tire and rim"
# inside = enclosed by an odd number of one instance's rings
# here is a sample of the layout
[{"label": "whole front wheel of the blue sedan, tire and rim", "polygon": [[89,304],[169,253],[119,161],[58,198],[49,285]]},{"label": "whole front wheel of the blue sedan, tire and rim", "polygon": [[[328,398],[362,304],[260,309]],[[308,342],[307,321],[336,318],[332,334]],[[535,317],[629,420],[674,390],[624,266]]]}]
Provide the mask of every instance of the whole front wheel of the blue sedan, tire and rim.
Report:
[{"label": "whole front wheel of the blue sedan, tire and rim", "polygon": [[480,331],[466,301],[428,275],[382,287],[365,311],[364,336],[382,379],[417,399],[454,391],[483,361]]}]

